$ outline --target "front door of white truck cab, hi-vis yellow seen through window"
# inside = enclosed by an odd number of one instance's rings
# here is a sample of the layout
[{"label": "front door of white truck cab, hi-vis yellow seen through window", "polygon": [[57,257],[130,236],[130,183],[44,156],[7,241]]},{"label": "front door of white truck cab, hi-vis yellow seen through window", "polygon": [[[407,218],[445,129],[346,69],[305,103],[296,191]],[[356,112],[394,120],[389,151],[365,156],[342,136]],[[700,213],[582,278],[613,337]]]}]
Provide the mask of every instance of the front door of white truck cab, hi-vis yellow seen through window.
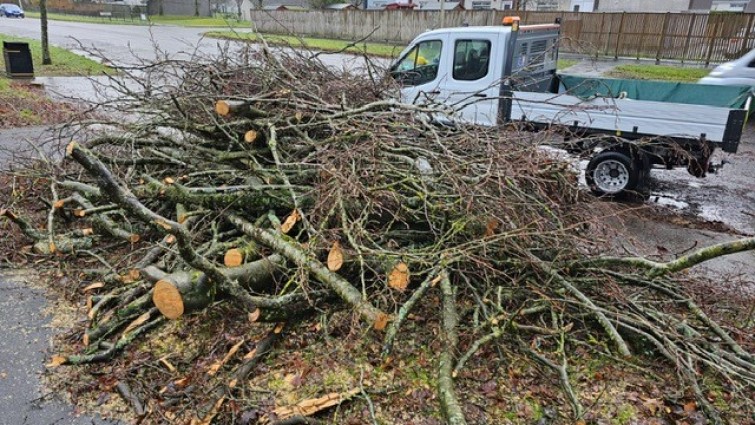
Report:
[{"label": "front door of white truck cab, hi-vis yellow seen through window", "polygon": [[448,63],[444,53],[445,34],[428,35],[418,39],[391,67],[391,75],[401,85],[403,103],[422,104],[438,101],[441,81],[448,73]]}]

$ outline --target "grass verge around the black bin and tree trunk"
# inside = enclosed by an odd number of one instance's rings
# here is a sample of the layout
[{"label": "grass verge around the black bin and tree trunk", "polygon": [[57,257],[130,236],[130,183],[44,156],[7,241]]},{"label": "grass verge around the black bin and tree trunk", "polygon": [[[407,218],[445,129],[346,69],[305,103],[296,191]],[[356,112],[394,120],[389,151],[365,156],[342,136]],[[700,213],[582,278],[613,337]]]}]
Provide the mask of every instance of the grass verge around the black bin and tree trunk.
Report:
[{"label": "grass verge around the black bin and tree trunk", "polygon": [[[42,43],[38,40],[0,34],[0,42],[3,41],[21,41],[29,43],[32,60],[34,61],[35,75],[96,75],[107,72],[110,69],[99,62],[95,62],[91,59],[71,53],[66,49],[55,46],[50,46],[52,65],[42,65]],[[3,72],[5,71],[5,61],[2,56],[0,56],[0,70]]]}]

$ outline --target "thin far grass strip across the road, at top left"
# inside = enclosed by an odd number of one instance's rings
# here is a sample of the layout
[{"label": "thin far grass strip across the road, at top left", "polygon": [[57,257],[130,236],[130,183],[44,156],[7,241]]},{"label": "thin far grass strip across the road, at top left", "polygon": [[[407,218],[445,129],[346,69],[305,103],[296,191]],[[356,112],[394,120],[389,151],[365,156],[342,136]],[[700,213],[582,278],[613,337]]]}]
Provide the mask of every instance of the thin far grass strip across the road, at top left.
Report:
[{"label": "thin far grass strip across the road, at top left", "polygon": [[[39,18],[39,12],[26,12],[29,18]],[[196,16],[149,16],[148,20],[142,21],[138,17],[126,18],[120,17],[100,17],[100,16],[82,16],[66,15],[63,13],[48,13],[47,18],[53,21],[68,22],[92,22],[98,24],[115,24],[115,25],[176,25],[182,27],[226,27],[226,28],[249,28],[251,23],[248,21],[239,21],[236,19],[224,18],[207,18]]]}]

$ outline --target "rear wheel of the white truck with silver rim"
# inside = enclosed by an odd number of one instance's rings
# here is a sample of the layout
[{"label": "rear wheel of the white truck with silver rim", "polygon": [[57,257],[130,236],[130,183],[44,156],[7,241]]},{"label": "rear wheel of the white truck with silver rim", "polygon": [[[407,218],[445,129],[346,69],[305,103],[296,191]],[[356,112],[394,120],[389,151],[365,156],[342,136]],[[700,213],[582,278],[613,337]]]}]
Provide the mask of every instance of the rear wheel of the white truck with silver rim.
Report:
[{"label": "rear wheel of the white truck with silver rim", "polygon": [[636,161],[617,151],[603,151],[592,157],[585,170],[590,190],[598,196],[616,196],[637,187],[640,170]]}]

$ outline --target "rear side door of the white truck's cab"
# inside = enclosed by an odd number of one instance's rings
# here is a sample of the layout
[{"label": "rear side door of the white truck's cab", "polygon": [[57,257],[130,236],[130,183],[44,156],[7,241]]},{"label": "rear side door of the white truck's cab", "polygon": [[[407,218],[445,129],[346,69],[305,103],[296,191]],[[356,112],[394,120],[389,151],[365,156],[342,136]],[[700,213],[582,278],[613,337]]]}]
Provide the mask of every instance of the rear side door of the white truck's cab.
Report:
[{"label": "rear side door of the white truck's cab", "polygon": [[452,67],[441,82],[440,97],[462,121],[496,124],[505,38],[498,32],[449,34]]}]

